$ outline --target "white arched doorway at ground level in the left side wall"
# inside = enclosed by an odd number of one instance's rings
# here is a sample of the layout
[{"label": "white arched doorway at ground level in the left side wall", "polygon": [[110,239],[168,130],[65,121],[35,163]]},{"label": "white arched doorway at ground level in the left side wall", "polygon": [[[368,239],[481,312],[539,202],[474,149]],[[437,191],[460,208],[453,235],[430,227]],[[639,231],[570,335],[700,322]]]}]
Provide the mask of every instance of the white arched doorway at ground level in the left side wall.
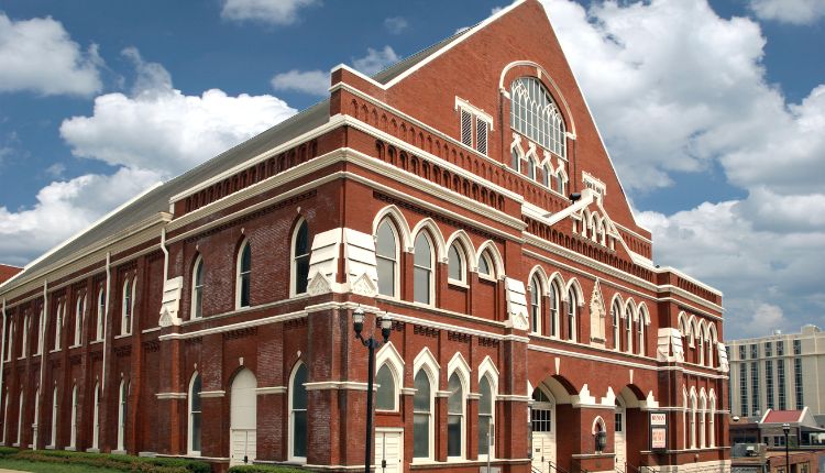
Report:
[{"label": "white arched doorway at ground level in the left side wall", "polygon": [[232,380],[230,394],[229,464],[252,463],[257,450],[257,380],[250,370],[241,370]]}]

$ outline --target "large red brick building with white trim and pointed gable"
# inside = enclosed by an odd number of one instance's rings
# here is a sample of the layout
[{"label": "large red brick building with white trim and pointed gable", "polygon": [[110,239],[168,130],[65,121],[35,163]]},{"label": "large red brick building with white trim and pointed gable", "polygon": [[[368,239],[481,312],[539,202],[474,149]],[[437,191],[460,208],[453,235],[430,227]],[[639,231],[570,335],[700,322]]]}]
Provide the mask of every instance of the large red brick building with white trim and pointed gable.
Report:
[{"label": "large red brick building with white trim and pointed gable", "polygon": [[6,444],[355,469],[360,307],[386,471],[729,469],[722,295],[651,262],[535,0],[334,68],[0,297]]}]

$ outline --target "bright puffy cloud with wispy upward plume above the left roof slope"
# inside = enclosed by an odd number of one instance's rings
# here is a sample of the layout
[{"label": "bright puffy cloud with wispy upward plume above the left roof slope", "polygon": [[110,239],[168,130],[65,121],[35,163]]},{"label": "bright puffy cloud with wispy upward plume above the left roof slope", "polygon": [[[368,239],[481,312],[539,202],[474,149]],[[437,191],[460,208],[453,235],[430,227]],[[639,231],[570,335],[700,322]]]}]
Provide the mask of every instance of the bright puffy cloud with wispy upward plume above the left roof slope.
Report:
[{"label": "bright puffy cloud with wispy upward plume above the left roof slope", "polygon": [[95,99],[91,117],[73,117],[61,135],[79,157],[116,166],[182,173],[275,125],[296,112],[273,96],[230,97],[219,89],[185,96],[172,88],[160,64],[136,52],[133,96],[107,94]]}]

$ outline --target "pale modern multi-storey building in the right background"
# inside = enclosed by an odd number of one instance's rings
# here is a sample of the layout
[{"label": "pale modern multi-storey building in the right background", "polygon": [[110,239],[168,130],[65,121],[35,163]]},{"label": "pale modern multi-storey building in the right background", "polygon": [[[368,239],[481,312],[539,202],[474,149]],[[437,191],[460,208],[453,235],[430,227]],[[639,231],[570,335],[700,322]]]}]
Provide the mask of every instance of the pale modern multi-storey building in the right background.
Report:
[{"label": "pale modern multi-storey building in the right background", "polygon": [[761,418],[767,409],[825,415],[825,332],[804,326],[800,333],[733,340],[732,414]]}]

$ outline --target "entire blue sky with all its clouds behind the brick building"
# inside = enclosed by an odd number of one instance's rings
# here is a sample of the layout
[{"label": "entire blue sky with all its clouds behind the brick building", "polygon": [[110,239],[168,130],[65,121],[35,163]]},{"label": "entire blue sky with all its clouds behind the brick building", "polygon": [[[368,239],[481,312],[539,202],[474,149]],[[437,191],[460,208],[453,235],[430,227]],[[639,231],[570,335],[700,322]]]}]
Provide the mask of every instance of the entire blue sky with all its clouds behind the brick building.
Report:
[{"label": "entire blue sky with all its clouds behind the brick building", "polygon": [[[656,262],[725,293],[728,338],[825,328],[825,1],[543,3]],[[0,261],[504,6],[0,3]]]}]

